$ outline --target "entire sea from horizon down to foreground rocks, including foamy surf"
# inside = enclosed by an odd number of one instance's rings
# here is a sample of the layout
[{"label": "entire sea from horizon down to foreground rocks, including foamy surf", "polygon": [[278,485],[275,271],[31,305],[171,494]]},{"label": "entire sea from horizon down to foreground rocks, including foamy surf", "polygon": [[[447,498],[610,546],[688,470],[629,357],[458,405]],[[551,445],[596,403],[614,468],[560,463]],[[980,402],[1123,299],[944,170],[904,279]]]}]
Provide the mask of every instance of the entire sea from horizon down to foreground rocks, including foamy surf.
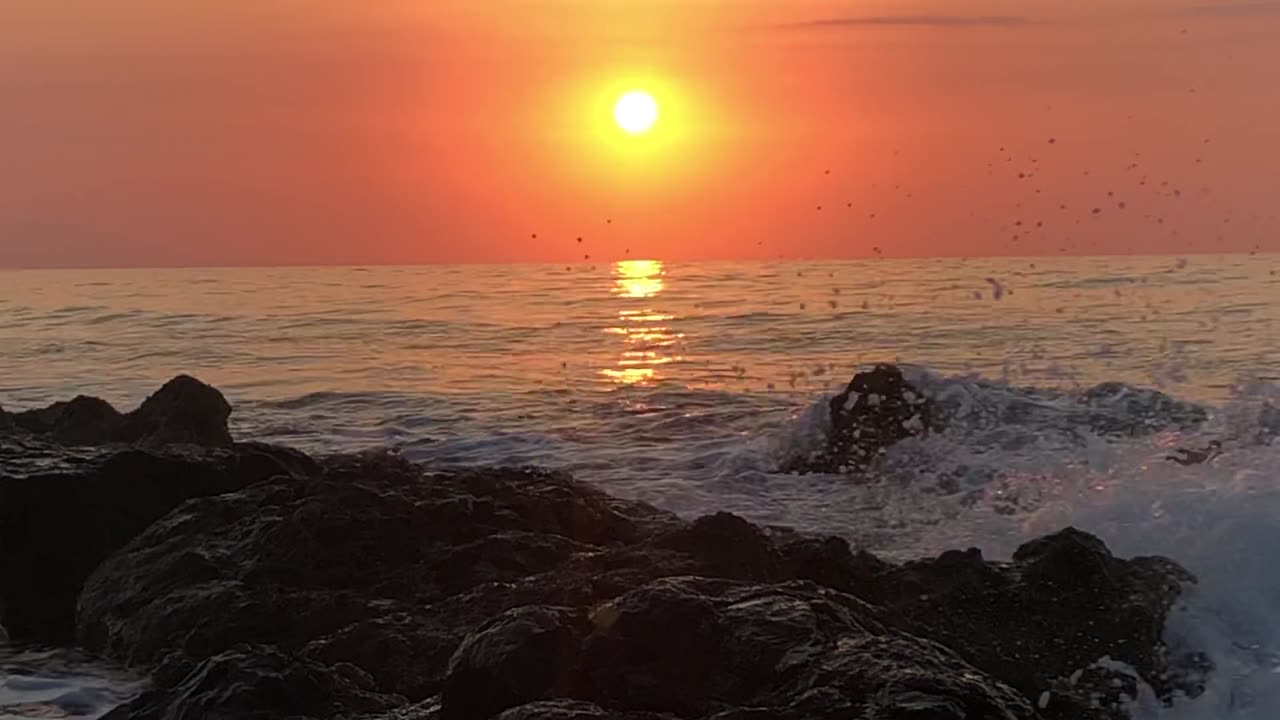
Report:
[{"label": "entire sea from horizon down to foreground rocks, including foamy surf", "polygon": [[[1208,647],[1217,680],[1156,715],[1271,719],[1277,270],[1276,256],[1192,256],[10,272],[0,404],[91,393],[127,409],[186,372],[228,395],[238,437],[563,468],[896,559],[1001,557],[1074,524],[1202,579],[1171,639]],[[959,421],[895,448],[873,480],[776,473],[820,436],[824,395],[883,360]],[[1211,419],[1093,434],[1078,391],[1110,380]],[[1226,452],[1207,465],[1164,460],[1208,439]],[[0,707],[28,701],[0,687]]]}]

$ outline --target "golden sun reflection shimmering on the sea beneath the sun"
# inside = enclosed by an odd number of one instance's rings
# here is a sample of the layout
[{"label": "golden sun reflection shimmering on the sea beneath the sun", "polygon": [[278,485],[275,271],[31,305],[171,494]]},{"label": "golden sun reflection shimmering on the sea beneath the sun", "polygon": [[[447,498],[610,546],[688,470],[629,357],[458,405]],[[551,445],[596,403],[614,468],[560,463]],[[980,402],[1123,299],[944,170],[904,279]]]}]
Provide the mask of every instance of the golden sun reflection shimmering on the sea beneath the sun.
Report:
[{"label": "golden sun reflection shimmering on the sea beneath the sun", "polygon": [[677,345],[685,336],[668,325],[676,316],[654,302],[664,288],[664,275],[660,260],[614,263],[611,292],[626,306],[618,310],[617,324],[604,332],[621,336],[625,345],[617,366],[600,369],[605,378],[620,384],[652,383],[662,365],[682,359]]}]

